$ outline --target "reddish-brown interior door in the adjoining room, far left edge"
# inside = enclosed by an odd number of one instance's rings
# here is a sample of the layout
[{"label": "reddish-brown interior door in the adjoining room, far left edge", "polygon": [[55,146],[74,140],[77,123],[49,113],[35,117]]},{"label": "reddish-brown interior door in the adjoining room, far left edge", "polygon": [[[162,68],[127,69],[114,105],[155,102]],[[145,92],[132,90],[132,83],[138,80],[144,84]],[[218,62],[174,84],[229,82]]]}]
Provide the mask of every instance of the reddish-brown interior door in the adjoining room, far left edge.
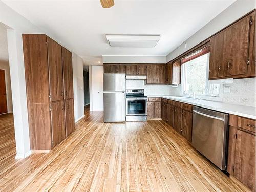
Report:
[{"label": "reddish-brown interior door in the adjoining room, far left edge", "polygon": [[5,70],[0,69],[0,114],[7,112]]}]

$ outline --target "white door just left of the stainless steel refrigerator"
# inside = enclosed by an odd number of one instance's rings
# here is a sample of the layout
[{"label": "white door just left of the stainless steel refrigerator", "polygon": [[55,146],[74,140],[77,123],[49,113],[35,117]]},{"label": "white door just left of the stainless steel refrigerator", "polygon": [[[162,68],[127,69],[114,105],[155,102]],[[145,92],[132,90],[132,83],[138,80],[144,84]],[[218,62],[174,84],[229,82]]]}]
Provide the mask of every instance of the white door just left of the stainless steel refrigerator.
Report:
[{"label": "white door just left of the stainless steel refrigerator", "polygon": [[92,66],[92,110],[103,111],[103,66]]}]

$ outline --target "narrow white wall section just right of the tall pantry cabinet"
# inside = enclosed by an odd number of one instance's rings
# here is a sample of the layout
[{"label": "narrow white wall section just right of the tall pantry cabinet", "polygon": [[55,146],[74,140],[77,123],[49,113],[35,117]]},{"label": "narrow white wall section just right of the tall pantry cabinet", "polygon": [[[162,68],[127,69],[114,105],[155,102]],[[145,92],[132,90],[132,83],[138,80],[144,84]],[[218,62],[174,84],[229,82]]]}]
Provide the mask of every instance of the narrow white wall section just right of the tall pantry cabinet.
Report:
[{"label": "narrow white wall section just right of the tall pantry cabinet", "polygon": [[83,92],[83,63],[82,59],[72,53],[73,62],[73,87],[74,87],[74,113],[75,122],[84,117],[84,92]]}]

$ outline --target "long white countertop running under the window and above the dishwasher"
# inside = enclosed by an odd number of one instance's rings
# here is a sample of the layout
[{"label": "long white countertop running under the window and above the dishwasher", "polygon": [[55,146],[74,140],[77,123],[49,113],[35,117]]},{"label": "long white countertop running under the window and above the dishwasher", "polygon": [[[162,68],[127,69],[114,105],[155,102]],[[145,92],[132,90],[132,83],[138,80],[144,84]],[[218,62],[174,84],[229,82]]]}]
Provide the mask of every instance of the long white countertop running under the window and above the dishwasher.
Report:
[{"label": "long white countertop running under the window and above the dishwasher", "polygon": [[178,97],[178,96],[170,96],[170,95],[146,95],[146,96],[171,99],[174,101],[180,101],[180,102],[195,105],[195,106],[201,106],[202,108],[206,108],[210,110],[247,117],[250,119],[256,119],[256,111],[255,111],[256,108],[252,106],[243,106],[243,105],[229,104],[229,103],[223,103],[223,102],[217,102],[217,101],[208,101],[204,99],[193,99],[188,97]]}]

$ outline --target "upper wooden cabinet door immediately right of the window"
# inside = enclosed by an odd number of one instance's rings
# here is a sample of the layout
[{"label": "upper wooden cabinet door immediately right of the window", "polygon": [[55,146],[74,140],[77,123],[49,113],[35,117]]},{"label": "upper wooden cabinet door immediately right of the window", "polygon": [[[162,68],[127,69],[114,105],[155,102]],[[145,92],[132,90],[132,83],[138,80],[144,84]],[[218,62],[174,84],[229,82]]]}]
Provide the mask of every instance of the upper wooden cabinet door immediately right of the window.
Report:
[{"label": "upper wooden cabinet door immediately right of the window", "polygon": [[224,76],[224,32],[210,38],[209,79]]}]

